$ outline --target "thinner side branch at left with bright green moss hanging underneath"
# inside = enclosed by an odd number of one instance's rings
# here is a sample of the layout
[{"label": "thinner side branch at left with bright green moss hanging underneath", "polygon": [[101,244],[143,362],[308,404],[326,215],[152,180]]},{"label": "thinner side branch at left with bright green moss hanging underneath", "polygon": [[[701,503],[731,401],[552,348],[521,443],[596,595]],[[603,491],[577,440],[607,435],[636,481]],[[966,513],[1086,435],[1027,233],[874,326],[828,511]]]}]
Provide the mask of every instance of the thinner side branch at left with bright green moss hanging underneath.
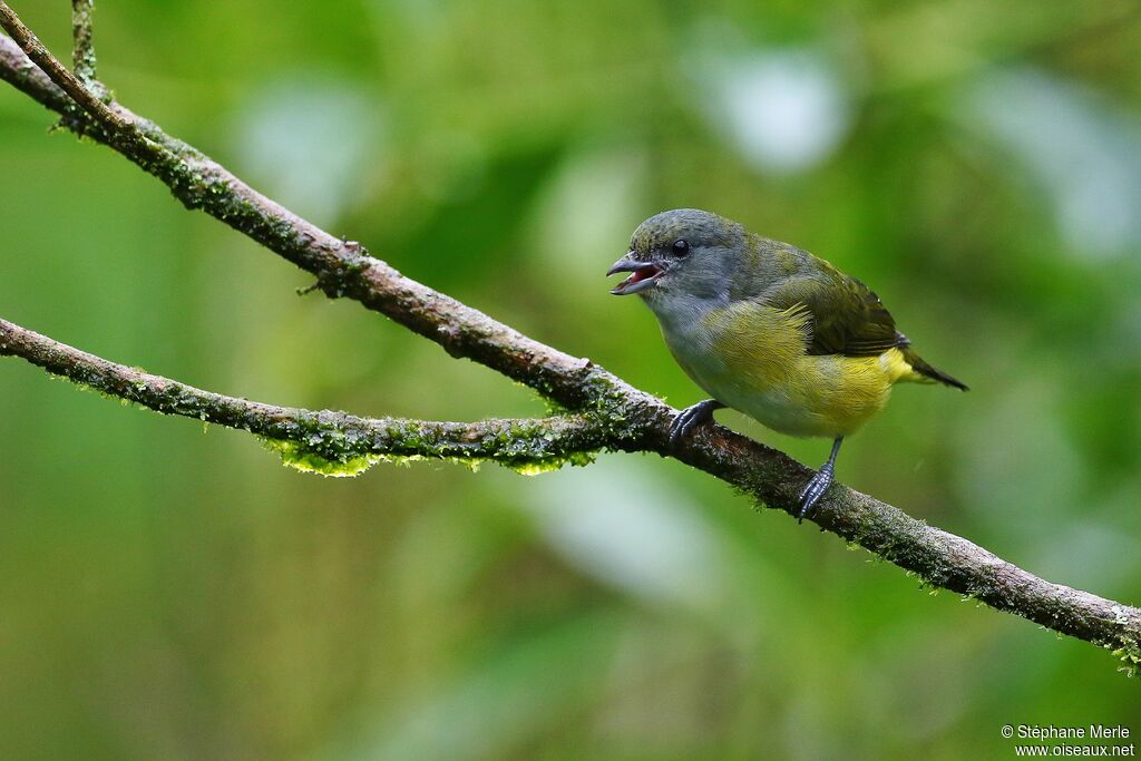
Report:
[{"label": "thinner side branch at left with bright green moss hanging underneath", "polygon": [[267,439],[288,464],[351,476],[381,459],[484,460],[524,472],[585,464],[602,447],[617,448],[593,415],[478,423],[358,418],[343,412],[278,407],[222,396],[107,362],[0,319],[0,356],[22,357],[54,375],[161,412],[244,430]]}]

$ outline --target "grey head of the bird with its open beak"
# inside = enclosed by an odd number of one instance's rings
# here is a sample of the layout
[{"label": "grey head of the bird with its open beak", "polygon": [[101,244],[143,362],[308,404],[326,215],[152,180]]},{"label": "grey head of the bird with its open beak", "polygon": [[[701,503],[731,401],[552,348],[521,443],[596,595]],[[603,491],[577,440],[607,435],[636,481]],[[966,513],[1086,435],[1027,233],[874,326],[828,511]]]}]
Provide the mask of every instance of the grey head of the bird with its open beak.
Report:
[{"label": "grey head of the bird with its open beak", "polygon": [[630,273],[610,293],[638,293],[652,307],[679,296],[720,298],[741,264],[746,236],[737,222],[707,211],[663,211],[638,226],[630,251],[606,273]]}]

